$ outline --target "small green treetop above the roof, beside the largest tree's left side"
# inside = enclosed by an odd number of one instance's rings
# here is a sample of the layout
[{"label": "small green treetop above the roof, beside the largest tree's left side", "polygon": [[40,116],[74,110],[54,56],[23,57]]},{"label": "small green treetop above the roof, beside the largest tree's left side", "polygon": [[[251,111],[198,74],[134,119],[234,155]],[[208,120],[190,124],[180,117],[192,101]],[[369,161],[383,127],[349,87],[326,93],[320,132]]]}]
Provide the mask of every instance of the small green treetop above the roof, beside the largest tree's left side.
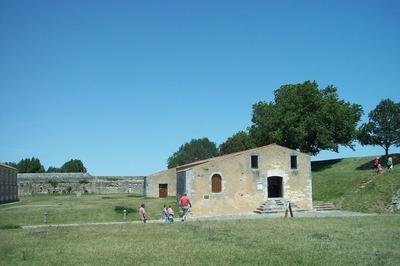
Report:
[{"label": "small green treetop above the roof, beside the largest tree's left side", "polygon": [[219,152],[221,155],[229,154],[239,151],[255,148],[253,139],[250,137],[248,132],[239,131],[229,137],[224,143],[219,146]]}]

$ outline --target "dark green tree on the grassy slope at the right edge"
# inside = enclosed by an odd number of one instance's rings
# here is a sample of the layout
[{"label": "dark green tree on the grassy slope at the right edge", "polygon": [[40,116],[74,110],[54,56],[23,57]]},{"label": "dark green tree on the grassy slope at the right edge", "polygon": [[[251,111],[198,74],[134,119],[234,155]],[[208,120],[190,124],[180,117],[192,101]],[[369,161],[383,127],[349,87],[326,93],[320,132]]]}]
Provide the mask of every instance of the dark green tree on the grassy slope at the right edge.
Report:
[{"label": "dark green tree on the grassy slope at the right edge", "polygon": [[387,157],[390,146],[400,146],[400,103],[382,100],[368,117],[368,123],[359,129],[358,140],[361,145],[381,146]]}]

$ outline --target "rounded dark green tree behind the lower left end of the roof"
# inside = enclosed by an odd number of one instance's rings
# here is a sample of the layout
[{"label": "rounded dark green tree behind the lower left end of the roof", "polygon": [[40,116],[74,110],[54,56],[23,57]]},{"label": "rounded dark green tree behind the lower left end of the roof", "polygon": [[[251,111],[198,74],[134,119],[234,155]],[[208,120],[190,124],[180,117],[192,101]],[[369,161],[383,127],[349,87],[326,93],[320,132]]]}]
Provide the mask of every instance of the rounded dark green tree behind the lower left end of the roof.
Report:
[{"label": "rounded dark green tree behind the lower left end of the roof", "polygon": [[192,139],[168,158],[168,168],[208,159],[218,155],[217,145],[208,138]]}]

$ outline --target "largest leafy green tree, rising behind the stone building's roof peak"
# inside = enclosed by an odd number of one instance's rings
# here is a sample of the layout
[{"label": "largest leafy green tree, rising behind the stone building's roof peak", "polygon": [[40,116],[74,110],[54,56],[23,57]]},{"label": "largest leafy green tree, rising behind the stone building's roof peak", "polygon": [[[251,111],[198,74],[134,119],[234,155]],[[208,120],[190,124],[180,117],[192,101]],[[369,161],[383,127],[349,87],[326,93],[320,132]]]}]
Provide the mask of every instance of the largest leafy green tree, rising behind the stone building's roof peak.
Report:
[{"label": "largest leafy green tree, rising behind the stone building's roof peak", "polygon": [[250,135],[257,146],[276,143],[312,155],[354,147],[362,107],[340,100],[334,86],[306,81],[283,85],[274,96],[253,105]]}]

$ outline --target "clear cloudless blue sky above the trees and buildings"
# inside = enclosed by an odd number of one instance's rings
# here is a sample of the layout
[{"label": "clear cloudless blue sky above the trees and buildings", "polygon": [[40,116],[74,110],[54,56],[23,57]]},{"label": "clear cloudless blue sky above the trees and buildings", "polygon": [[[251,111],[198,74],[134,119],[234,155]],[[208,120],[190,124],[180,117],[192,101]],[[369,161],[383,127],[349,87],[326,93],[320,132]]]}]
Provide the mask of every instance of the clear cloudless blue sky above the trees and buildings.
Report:
[{"label": "clear cloudless blue sky above the trees and buildings", "polygon": [[280,85],[333,84],[365,120],[399,77],[400,1],[1,0],[0,161],[146,175],[246,129]]}]

